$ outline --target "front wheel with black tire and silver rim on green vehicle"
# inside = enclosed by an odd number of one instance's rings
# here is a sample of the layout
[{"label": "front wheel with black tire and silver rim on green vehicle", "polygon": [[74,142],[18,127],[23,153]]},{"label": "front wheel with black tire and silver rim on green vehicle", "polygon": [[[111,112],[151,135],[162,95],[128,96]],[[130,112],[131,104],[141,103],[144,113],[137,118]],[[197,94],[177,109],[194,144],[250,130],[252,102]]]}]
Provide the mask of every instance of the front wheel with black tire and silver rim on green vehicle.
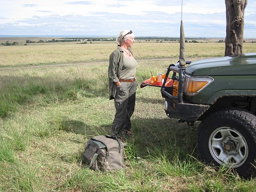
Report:
[{"label": "front wheel with black tire and silver rim on green vehicle", "polygon": [[198,128],[198,150],[206,163],[256,176],[256,117],[227,109],[209,115]]}]

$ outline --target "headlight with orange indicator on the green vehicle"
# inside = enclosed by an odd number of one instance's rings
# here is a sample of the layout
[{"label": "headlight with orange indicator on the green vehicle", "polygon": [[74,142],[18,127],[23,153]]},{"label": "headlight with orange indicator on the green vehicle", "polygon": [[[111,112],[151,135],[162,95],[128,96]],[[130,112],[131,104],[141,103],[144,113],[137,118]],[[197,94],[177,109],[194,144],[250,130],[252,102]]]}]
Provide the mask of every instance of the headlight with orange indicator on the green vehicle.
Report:
[{"label": "headlight with orange indicator on the green vehicle", "polygon": [[184,75],[184,94],[185,95],[196,95],[198,92],[202,91],[206,86],[208,86],[212,81],[211,77],[191,77],[189,75]]}]

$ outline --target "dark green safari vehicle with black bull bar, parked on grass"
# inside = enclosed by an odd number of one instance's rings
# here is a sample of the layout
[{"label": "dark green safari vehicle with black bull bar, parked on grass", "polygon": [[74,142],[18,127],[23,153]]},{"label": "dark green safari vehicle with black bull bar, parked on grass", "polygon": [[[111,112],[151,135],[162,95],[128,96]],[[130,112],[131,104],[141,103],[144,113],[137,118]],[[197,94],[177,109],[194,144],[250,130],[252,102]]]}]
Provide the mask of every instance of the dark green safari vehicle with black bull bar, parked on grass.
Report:
[{"label": "dark green safari vehicle with black bull bar, parked on grass", "polygon": [[[256,53],[179,63],[161,86],[170,118],[198,128],[198,150],[209,164],[256,176]],[[167,79],[174,86],[165,86]],[[178,92],[178,94],[174,94]]]}]

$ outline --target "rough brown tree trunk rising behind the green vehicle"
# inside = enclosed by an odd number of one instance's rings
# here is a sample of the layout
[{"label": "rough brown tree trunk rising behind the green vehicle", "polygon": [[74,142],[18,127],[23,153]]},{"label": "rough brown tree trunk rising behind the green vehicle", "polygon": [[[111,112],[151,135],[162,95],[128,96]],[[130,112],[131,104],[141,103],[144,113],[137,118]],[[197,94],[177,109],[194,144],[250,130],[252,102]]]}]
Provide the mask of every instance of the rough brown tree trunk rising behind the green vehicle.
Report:
[{"label": "rough brown tree trunk rising behind the green vehicle", "polygon": [[242,53],[244,15],[247,0],[225,0],[226,38],[225,56]]}]

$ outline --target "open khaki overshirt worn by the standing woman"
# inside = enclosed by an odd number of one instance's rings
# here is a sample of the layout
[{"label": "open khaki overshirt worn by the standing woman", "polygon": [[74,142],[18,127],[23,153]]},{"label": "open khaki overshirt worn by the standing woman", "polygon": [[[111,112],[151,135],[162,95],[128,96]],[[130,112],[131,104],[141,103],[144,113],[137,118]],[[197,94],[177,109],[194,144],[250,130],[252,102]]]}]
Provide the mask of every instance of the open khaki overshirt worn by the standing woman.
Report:
[{"label": "open khaki overshirt worn by the standing woman", "polygon": [[115,92],[117,92],[117,85],[115,82],[119,82],[120,72],[123,69],[124,64],[124,51],[118,46],[109,55],[108,66],[108,87],[109,87],[109,100],[113,100]]}]

